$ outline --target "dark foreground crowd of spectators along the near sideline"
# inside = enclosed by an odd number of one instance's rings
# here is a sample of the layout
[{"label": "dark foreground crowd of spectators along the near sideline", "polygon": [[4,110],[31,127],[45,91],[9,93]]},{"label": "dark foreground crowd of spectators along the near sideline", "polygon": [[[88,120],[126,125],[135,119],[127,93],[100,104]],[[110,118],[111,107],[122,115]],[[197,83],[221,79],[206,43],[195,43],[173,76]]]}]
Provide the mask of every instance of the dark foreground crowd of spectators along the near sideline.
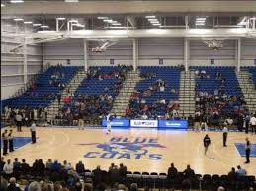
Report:
[{"label": "dark foreground crowd of spectators along the near sideline", "polygon": [[[149,190],[150,187],[155,187],[156,180],[140,181],[139,179],[129,179],[127,167],[124,164],[119,166],[114,163],[111,164],[108,171],[102,170],[98,165],[96,169],[87,170],[85,164],[79,161],[73,167],[71,163],[66,160],[60,163],[58,160],[52,161],[48,159],[43,163],[42,159],[36,159],[32,165],[29,165],[25,159],[20,162],[19,159],[10,159],[5,161],[1,158],[1,190],[28,190],[28,191],[60,191],[60,190],[74,190],[74,191],[92,191],[92,190],[124,190],[137,191],[143,187]],[[134,172],[140,175],[140,172]],[[143,172],[144,175],[148,174]],[[157,175],[157,173],[151,173]],[[199,188],[201,185],[203,189],[207,190],[249,190],[253,191],[256,186],[255,176],[248,176],[245,169],[240,165],[235,170],[232,167],[227,175],[211,175],[196,174],[190,165],[187,165],[184,171],[178,171],[171,163],[167,173],[161,173],[165,176],[166,184],[158,185],[164,189],[174,189],[176,187],[182,190],[190,190],[192,187]],[[132,176],[131,176],[132,177]],[[9,183],[7,182],[9,180]],[[18,181],[16,181],[18,180]],[[21,181],[23,180],[23,181]],[[225,181],[223,181],[225,180]],[[21,182],[22,185],[18,184]],[[153,183],[154,182],[154,183]],[[168,183],[167,183],[168,182]],[[158,187],[157,186],[157,187]]]}]

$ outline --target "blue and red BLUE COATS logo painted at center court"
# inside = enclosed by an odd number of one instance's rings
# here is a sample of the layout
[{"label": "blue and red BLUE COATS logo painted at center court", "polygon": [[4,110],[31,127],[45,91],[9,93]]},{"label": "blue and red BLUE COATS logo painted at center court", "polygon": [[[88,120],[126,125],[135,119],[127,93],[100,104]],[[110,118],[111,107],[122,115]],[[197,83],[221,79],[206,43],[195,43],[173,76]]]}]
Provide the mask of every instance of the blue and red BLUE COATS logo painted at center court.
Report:
[{"label": "blue and red BLUE COATS logo painted at center court", "polygon": [[[166,148],[155,138],[112,137],[105,143],[79,144],[80,146],[95,146],[96,151],[87,152],[84,158],[101,159],[162,159],[161,154],[153,154],[150,148]],[[99,151],[100,150],[100,151]]]}]

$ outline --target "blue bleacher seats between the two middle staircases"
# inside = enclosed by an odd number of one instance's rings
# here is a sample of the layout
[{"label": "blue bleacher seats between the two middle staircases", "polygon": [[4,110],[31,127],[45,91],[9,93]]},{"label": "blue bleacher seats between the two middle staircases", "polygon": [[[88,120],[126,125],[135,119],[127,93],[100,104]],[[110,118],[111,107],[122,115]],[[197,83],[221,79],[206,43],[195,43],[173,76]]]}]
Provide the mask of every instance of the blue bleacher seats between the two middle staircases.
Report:
[{"label": "blue bleacher seats between the two middle staircases", "polygon": [[[146,112],[147,115],[149,115],[149,118],[157,118],[158,116],[164,116],[167,112],[167,106],[170,101],[176,101],[179,98],[179,94],[173,94],[171,93],[171,90],[178,91],[179,90],[179,84],[180,84],[180,69],[177,67],[159,67],[159,66],[143,66],[139,67],[140,73],[143,75],[144,73],[152,73],[154,76],[149,79],[141,80],[135,87],[135,89],[143,93],[146,90],[149,89],[150,86],[153,86],[154,83],[156,83],[157,80],[161,79],[165,81],[166,86],[164,91],[153,91],[151,96],[142,96],[140,95],[140,99],[145,99],[146,103],[149,107],[153,106],[155,109],[149,109],[149,112]],[[164,99],[166,101],[166,105],[163,106],[159,103],[156,103],[157,101]],[[143,104],[136,103],[134,100],[130,100],[129,107],[131,110],[130,117],[138,117],[139,115],[142,115],[144,111],[141,109],[143,107]]]}]

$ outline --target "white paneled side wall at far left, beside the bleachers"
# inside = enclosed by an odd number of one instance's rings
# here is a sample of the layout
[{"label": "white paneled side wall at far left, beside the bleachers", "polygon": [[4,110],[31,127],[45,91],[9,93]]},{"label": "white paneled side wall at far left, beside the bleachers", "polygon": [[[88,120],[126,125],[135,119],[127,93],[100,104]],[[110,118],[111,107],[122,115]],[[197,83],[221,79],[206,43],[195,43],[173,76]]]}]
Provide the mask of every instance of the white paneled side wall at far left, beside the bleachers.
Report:
[{"label": "white paneled side wall at far left, beside the bleachers", "polygon": [[[10,50],[24,42],[21,37],[8,36],[14,33],[31,32],[32,27],[19,22],[1,20],[1,99],[13,96],[20,88],[24,87],[24,56],[23,48],[17,53]],[[28,80],[42,68],[42,45],[27,46]]]}]

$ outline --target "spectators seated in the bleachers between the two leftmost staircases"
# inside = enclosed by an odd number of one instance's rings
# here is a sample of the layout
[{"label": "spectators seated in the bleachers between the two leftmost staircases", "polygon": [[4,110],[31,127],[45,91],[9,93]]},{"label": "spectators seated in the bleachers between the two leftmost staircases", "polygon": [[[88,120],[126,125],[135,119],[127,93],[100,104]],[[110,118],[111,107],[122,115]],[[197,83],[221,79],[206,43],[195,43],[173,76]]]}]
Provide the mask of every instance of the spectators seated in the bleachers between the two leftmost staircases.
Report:
[{"label": "spectators seated in the bleachers between the two leftmost staircases", "polygon": [[[68,94],[63,97],[64,107],[59,110],[55,118],[57,125],[78,125],[79,120],[96,121],[102,119],[111,110],[114,95],[118,95],[123,87],[123,81],[126,79],[128,70],[132,70],[132,66],[119,65],[115,70],[104,72],[101,68],[91,68],[80,87],[90,87],[88,80],[98,79],[116,79],[111,87],[106,86],[103,90],[104,94]],[[100,82],[99,82],[100,83]],[[57,96],[60,102],[61,96]],[[81,124],[83,125],[83,123]]]}]

